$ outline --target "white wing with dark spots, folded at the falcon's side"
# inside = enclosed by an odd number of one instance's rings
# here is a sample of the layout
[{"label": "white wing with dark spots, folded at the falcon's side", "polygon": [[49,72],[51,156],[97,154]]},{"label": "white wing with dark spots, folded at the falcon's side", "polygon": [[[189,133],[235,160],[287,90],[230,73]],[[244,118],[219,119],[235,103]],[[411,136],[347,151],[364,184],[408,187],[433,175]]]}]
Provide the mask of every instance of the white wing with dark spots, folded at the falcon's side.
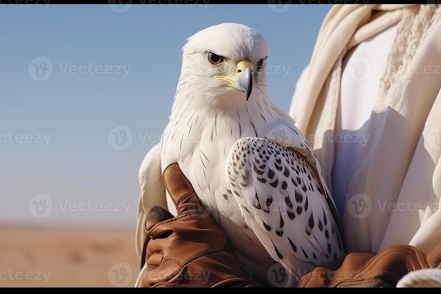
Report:
[{"label": "white wing with dark spots, folded at the falcon's side", "polygon": [[343,252],[325,188],[305,151],[248,137],[233,145],[226,163],[247,225],[297,277]]}]

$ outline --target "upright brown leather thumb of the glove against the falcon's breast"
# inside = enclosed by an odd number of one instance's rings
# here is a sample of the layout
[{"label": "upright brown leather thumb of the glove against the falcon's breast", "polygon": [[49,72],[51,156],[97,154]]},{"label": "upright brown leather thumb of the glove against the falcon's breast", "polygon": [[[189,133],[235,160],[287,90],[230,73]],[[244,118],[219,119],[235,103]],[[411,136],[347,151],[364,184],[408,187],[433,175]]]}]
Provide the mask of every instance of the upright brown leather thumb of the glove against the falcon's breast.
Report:
[{"label": "upright brown leather thumb of the glove against the falcon's breast", "polygon": [[179,164],[169,164],[162,173],[165,189],[172,198],[178,214],[188,210],[204,211],[191,183],[183,175]]}]

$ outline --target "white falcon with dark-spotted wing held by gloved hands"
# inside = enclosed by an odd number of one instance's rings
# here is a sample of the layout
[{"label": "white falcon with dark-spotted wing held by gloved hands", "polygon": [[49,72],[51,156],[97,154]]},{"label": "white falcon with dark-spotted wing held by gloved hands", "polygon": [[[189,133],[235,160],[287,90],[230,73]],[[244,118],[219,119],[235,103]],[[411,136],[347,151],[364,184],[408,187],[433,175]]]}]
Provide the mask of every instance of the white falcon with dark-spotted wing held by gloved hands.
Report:
[{"label": "white falcon with dark-spotted wing held by gloved hands", "polygon": [[[320,164],[292,119],[269,100],[268,57],[265,38],[241,24],[211,26],[187,39],[170,121],[140,173],[138,247],[146,211],[164,205],[152,195],[164,193],[161,170],[177,162],[254,278],[267,279],[280,263],[295,284],[342,255]],[[176,215],[168,195],[167,203]]]}]

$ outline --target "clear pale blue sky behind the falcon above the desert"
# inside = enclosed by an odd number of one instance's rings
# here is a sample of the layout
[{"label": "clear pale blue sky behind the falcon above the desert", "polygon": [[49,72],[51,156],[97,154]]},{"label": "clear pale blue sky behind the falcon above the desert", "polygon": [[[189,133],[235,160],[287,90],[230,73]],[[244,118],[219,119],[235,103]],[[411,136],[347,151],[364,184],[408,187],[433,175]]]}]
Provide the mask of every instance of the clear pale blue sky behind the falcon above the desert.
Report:
[{"label": "clear pale blue sky behind the falcon above the desert", "polygon": [[[271,49],[269,95],[288,110],[329,8],[0,6],[0,221],[133,226],[138,168],[167,124],[186,38],[223,22],[258,30]],[[121,147],[109,135],[120,125],[132,133]],[[52,207],[38,219],[40,194]]]}]

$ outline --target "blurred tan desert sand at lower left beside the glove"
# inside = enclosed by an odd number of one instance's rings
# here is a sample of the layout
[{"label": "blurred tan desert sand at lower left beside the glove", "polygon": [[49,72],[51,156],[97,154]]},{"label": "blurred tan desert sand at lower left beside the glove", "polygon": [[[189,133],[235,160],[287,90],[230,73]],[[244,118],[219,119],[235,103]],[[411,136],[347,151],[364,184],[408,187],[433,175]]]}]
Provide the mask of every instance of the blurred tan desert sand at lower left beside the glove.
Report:
[{"label": "blurred tan desert sand at lower left beside the glove", "polygon": [[132,287],[135,232],[0,228],[1,287]]}]

